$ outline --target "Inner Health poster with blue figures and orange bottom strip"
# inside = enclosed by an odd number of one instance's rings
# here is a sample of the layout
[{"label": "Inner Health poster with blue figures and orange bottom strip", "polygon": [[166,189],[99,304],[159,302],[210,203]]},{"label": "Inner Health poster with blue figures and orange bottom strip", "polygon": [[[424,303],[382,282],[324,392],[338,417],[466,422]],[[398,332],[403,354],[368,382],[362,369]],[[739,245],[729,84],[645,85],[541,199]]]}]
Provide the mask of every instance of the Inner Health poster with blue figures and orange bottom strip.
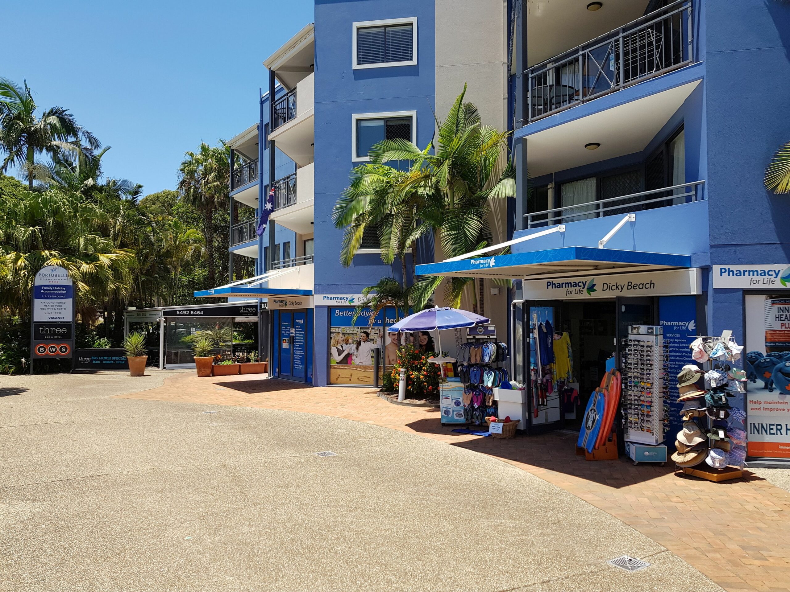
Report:
[{"label": "Inner Health poster with blue figures and orange bottom strip", "polygon": [[790,459],[790,293],[746,295],[747,452]]}]

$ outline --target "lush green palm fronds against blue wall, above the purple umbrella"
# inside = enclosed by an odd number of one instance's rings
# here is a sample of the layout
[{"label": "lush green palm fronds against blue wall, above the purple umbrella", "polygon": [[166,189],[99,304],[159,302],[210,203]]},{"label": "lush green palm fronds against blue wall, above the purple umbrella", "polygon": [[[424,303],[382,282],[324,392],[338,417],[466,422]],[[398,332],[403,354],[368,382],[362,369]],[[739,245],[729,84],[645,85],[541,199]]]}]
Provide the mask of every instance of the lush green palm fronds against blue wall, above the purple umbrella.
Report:
[{"label": "lush green palm fronds against blue wall, above the purple umbrella", "polygon": [[[435,143],[420,150],[404,139],[379,142],[369,152],[371,163],[352,171],[351,184],[333,209],[336,227],[344,228],[343,264],[351,264],[364,231],[371,227],[378,231],[385,261],[393,253],[404,257],[427,234],[438,238],[446,258],[489,244],[491,200],[515,196],[515,169],[506,158],[509,133],[483,126],[477,108],[464,102],[465,94],[466,86],[446,118],[437,119]],[[397,170],[387,165],[392,161],[410,166]],[[412,306],[422,309],[443,279],[414,283],[408,290]],[[448,279],[451,305],[460,305],[470,282]]]}]

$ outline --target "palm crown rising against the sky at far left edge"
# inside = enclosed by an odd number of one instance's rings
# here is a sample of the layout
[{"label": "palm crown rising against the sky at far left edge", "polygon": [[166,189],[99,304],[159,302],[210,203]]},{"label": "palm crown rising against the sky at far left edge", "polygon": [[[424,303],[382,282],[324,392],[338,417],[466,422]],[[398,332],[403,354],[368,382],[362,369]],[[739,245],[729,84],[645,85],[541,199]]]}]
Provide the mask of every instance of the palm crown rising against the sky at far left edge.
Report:
[{"label": "palm crown rising against the sky at far left edge", "polygon": [[0,77],[0,150],[6,152],[0,172],[12,165],[19,167],[30,190],[36,178],[47,178],[47,168],[36,162],[36,155],[70,153],[89,157],[101,145],[92,133],[77,125],[67,109],[51,107],[40,117],[36,117],[36,109],[27,81],[20,86]]}]

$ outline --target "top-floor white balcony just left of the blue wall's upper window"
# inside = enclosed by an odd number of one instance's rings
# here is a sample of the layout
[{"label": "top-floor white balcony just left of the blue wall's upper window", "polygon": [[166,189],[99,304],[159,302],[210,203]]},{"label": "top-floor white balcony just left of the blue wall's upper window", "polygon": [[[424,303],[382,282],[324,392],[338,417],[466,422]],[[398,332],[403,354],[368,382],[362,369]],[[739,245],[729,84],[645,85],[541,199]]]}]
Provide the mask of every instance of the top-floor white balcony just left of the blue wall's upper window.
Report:
[{"label": "top-floor white balcony just left of the blue wall's upper window", "polygon": [[275,142],[299,167],[313,162],[314,80],[315,75],[308,74],[274,103],[274,126],[269,141]]}]

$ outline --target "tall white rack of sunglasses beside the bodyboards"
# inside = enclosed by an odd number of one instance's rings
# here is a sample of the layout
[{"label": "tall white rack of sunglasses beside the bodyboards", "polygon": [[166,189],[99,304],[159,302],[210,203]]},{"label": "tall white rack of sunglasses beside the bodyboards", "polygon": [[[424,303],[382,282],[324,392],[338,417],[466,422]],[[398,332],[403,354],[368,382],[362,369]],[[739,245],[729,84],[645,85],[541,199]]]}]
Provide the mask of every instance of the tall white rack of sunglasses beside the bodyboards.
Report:
[{"label": "tall white rack of sunglasses beside the bodyboards", "polygon": [[[664,399],[669,389],[668,362],[661,327],[629,326],[623,353],[621,400],[626,443],[656,446],[664,441]],[[645,459],[648,457],[645,455]],[[663,462],[658,457],[650,460]]]}]

